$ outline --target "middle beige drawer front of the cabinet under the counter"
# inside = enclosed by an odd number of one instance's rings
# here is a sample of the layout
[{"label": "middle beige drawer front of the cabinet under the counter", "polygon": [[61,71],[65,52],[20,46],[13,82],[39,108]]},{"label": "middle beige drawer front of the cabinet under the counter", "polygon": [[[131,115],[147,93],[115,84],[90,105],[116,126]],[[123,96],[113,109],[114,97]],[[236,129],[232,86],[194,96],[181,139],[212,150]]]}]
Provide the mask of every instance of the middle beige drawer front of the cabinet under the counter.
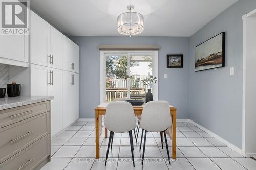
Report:
[{"label": "middle beige drawer front of the cabinet under the counter", "polygon": [[0,129],[0,163],[47,134],[47,114]]}]

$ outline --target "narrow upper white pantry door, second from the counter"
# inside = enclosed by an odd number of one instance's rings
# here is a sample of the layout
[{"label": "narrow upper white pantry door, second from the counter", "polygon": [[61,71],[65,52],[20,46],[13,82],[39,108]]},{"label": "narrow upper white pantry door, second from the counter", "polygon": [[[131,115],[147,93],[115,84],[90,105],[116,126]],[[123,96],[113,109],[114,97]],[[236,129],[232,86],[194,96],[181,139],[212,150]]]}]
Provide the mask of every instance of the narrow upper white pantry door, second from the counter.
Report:
[{"label": "narrow upper white pantry door, second from the counter", "polygon": [[50,67],[61,69],[61,37],[64,36],[57,29],[50,26]]}]

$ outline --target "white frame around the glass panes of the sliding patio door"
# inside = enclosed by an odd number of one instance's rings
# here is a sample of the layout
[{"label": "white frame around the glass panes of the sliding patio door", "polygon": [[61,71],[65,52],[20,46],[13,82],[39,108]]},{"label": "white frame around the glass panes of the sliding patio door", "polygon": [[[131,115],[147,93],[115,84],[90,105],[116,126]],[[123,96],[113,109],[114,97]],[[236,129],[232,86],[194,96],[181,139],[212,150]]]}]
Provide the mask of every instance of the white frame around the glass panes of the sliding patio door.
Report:
[{"label": "white frame around the glass panes of the sliding patio door", "polygon": [[[105,56],[108,54],[117,54],[117,55],[127,55],[128,64],[130,65],[130,56],[131,55],[152,55],[152,75],[158,77],[158,50],[140,50],[140,51],[131,51],[131,50],[117,50],[117,51],[99,51],[99,68],[100,68],[100,80],[99,80],[99,102],[103,103],[105,101],[105,87],[106,87],[106,60]],[[128,67],[128,74],[130,75],[130,67]],[[130,79],[128,79],[130,84]],[[129,90],[129,89],[128,89]],[[158,81],[152,86],[152,93],[154,100],[158,100]],[[129,94],[130,95],[130,94]]]}]

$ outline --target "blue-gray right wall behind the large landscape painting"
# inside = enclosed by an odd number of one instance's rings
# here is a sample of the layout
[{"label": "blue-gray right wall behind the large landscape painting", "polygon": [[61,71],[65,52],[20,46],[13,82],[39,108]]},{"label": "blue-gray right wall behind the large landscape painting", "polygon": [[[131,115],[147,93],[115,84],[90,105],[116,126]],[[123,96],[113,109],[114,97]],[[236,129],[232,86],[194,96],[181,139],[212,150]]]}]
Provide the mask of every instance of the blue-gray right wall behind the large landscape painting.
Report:
[{"label": "blue-gray right wall behind the large landscape painting", "polygon": [[[240,0],[190,37],[189,118],[242,148],[242,15],[256,8],[255,0]],[[226,32],[225,67],[194,71],[195,46]],[[229,75],[229,67],[235,74]]]}]

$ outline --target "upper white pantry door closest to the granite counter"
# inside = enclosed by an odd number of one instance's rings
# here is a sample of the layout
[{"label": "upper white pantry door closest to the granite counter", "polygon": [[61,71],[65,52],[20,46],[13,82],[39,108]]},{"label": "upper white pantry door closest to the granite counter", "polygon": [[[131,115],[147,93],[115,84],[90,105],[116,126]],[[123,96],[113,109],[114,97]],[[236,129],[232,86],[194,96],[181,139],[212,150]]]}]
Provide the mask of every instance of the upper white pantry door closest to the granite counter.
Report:
[{"label": "upper white pantry door closest to the granite counter", "polygon": [[32,64],[49,66],[48,32],[49,24],[31,11],[30,57]]}]

